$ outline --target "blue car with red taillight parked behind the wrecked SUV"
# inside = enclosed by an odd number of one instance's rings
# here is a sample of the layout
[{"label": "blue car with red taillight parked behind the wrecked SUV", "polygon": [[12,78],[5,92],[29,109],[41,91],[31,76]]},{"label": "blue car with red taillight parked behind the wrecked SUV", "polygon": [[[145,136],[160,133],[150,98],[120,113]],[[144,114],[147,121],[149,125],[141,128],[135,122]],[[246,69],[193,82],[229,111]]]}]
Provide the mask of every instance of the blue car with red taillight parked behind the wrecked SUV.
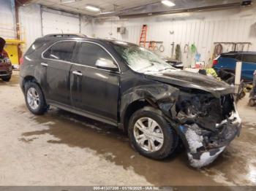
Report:
[{"label": "blue car with red taillight parked behind the wrecked SUV", "polygon": [[241,79],[252,82],[256,70],[256,52],[227,52],[214,59],[213,67],[217,72],[222,69],[231,73],[236,71],[236,62],[242,61]]}]

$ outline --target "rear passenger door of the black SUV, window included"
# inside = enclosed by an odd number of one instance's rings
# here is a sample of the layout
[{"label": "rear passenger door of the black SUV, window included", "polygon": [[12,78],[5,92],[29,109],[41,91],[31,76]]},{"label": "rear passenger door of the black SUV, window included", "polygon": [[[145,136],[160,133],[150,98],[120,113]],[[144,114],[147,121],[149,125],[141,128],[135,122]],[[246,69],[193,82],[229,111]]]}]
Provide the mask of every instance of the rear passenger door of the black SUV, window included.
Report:
[{"label": "rear passenger door of the black SUV, window included", "polygon": [[71,105],[70,69],[75,41],[56,42],[43,53],[42,72],[45,72],[45,95],[49,101]]}]

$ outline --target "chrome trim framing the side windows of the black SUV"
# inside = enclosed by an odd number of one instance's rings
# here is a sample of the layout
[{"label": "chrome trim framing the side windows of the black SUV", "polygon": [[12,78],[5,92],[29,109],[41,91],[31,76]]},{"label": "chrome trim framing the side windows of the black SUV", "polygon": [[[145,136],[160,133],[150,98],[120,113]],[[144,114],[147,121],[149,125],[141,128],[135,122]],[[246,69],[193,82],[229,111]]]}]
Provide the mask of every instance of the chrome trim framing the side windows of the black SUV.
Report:
[{"label": "chrome trim framing the side windows of the black SUV", "polygon": [[[94,66],[87,66],[87,65],[80,64],[80,63],[72,63],[72,62],[69,62],[69,61],[63,61],[63,60],[55,60],[55,59],[51,59],[51,58],[45,58],[45,57],[44,57],[45,52],[48,51],[51,47],[53,47],[54,44],[57,44],[57,43],[59,43],[59,42],[87,42],[87,43],[91,43],[91,44],[97,44],[99,47],[102,47],[103,50],[105,50],[106,52],[108,52],[108,55],[110,55],[111,58],[113,58],[113,61],[115,61],[116,66],[118,66],[118,71],[117,71],[116,73],[118,73],[118,74],[121,73],[121,69],[120,69],[120,66],[119,66],[118,62],[116,61],[116,58],[114,58],[113,55],[111,55],[110,52],[109,52],[105,47],[103,47],[101,44],[98,44],[97,42],[90,42],[90,41],[86,41],[86,40],[60,40],[60,41],[58,41],[58,42],[54,42],[53,44],[50,44],[50,46],[42,52],[41,58],[42,58],[42,59],[45,59],[45,60],[49,60],[49,61],[61,61],[61,62],[64,62],[64,63],[71,63],[71,64],[74,64],[74,65],[77,65],[77,66],[85,66],[85,67],[89,67],[89,68],[92,68],[92,69],[99,69],[99,68],[94,67]],[[111,70],[107,70],[107,69],[99,69],[99,70],[111,71]]]}]

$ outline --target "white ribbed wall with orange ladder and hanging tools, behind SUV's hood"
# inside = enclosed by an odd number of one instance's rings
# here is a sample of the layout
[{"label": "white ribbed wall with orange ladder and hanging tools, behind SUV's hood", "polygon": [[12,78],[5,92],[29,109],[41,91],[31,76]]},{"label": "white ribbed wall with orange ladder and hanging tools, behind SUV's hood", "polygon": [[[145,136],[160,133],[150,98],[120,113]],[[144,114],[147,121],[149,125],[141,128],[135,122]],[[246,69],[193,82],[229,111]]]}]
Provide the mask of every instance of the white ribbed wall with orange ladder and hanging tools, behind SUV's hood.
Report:
[{"label": "white ribbed wall with orange ladder and hanging tools, behind SUV's hood", "polygon": [[[170,56],[172,42],[181,44],[181,56],[189,66],[194,55],[184,54],[184,45],[192,43],[200,53],[201,61],[211,63],[214,42],[251,42],[249,50],[256,50],[256,7],[227,9],[199,13],[161,15],[143,18],[94,20],[93,33],[97,37],[112,37],[138,44],[143,24],[148,25],[147,41],[164,42],[163,55]],[[116,28],[124,26],[127,34],[117,34]],[[173,31],[173,34],[170,34]],[[246,47],[244,50],[247,50]],[[230,51],[230,46],[224,46]]]}]

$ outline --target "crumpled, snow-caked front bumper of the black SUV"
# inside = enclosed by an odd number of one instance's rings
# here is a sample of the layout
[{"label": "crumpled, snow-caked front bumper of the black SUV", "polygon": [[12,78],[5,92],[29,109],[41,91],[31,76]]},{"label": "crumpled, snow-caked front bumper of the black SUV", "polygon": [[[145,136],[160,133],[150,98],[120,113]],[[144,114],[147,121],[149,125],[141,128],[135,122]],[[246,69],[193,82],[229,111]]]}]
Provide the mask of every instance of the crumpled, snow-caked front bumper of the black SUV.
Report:
[{"label": "crumpled, snow-caked front bumper of the black SUV", "polygon": [[217,132],[203,130],[197,124],[180,125],[179,131],[183,134],[183,141],[187,146],[187,155],[192,167],[201,168],[212,163],[230,141],[239,136],[241,118],[236,110],[227,120],[216,125]]}]

